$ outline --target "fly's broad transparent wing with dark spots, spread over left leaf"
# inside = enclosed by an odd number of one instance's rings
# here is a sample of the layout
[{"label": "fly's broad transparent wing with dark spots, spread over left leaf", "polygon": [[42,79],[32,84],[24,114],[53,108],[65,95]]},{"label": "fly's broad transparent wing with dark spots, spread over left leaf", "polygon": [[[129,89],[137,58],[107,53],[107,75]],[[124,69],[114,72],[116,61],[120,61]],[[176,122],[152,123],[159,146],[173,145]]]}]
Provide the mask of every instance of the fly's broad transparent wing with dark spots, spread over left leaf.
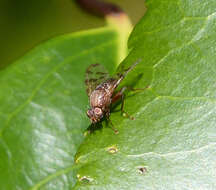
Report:
[{"label": "fly's broad transparent wing with dark spots, spread over left leaf", "polygon": [[100,64],[92,64],[86,70],[85,84],[88,96],[95,88],[109,78],[107,70]]}]

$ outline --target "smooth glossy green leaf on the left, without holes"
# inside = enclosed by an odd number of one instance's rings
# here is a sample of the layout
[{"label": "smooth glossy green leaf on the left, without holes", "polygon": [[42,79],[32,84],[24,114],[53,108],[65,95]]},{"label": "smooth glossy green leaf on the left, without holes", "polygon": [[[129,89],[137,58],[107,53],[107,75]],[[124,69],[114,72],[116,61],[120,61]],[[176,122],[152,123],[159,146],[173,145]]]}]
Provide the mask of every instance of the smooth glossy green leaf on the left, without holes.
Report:
[{"label": "smooth glossy green leaf on the left, without holes", "polygon": [[70,189],[90,122],[84,74],[119,59],[111,27],[60,36],[0,71],[0,189]]}]

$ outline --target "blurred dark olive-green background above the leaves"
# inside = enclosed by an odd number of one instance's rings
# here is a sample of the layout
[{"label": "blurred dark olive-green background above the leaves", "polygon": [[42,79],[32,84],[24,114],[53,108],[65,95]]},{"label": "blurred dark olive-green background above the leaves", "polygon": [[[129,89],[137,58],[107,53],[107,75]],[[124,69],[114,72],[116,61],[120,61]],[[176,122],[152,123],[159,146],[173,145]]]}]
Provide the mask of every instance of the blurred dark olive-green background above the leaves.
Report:
[{"label": "blurred dark olive-green background above the leaves", "polygon": [[[144,14],[144,0],[108,0],[119,5],[135,24]],[[105,25],[73,0],[0,0],[0,68],[41,41]]]}]

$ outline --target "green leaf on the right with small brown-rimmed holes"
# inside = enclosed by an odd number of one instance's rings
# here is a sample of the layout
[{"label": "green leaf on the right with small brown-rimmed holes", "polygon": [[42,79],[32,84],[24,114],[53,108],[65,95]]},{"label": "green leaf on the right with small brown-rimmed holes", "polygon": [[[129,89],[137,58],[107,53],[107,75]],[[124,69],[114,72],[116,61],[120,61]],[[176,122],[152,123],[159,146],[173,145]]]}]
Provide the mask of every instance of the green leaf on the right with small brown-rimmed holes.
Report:
[{"label": "green leaf on the right with small brown-rimmed holes", "polygon": [[[140,63],[124,84],[119,130],[95,130],[78,150],[73,189],[216,189],[216,1],[147,1],[123,64]],[[120,108],[120,106],[117,107]]]}]

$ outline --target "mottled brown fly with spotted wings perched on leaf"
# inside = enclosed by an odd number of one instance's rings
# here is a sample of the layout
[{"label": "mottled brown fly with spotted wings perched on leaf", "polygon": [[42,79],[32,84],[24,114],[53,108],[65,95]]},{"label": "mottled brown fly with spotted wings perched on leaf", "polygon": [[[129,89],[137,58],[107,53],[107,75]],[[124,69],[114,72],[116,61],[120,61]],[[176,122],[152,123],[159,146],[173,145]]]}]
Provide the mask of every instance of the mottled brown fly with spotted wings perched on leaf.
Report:
[{"label": "mottled brown fly with spotted wings perched on leaf", "polygon": [[[109,119],[110,105],[120,98],[123,100],[123,87],[119,92],[114,93],[125,76],[139,63],[137,61],[130,68],[117,74],[117,77],[110,78],[108,72],[100,64],[92,64],[86,70],[86,87],[91,108],[87,111],[87,116],[93,124],[99,122],[104,116]],[[123,102],[121,106],[123,111]],[[129,116],[126,112],[124,112]]]}]

